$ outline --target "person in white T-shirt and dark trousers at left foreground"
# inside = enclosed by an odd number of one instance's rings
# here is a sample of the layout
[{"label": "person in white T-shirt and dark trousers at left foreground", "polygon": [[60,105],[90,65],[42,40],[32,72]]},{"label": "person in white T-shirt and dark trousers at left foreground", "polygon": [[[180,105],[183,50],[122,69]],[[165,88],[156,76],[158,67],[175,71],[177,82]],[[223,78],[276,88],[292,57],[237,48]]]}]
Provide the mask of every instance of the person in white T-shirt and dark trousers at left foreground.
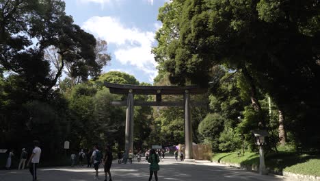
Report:
[{"label": "person in white T-shirt and dark trousers at left foreground", "polygon": [[[37,167],[40,162],[41,149],[39,147],[39,141],[34,141],[34,149],[32,150],[32,154],[29,158],[28,165],[29,171],[32,176],[32,181],[36,181],[37,179]],[[31,163],[31,165],[30,165]]]}]

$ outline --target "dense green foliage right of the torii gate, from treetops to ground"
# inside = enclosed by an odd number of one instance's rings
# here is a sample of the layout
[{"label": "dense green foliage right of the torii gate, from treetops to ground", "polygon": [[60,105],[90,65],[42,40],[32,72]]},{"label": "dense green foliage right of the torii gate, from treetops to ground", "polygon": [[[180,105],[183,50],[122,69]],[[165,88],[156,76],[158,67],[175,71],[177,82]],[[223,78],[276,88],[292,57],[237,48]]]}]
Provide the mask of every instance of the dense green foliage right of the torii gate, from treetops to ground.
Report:
[{"label": "dense green foliage right of the torii gate, from treetops to ground", "polygon": [[172,84],[210,86],[209,113],[226,120],[219,132],[231,128],[243,134],[245,147],[254,149],[251,130],[267,129],[272,149],[286,136],[304,149],[319,149],[319,5],[313,0],[165,3],[159,9],[159,44],[152,49],[159,73]]}]

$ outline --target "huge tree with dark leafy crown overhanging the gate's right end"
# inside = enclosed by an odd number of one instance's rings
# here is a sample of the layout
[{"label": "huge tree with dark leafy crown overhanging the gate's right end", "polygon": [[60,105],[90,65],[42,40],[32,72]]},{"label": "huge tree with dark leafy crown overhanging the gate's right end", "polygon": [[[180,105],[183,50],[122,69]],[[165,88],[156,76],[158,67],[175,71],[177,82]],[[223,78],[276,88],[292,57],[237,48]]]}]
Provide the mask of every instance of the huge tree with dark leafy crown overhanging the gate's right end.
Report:
[{"label": "huge tree with dark leafy crown overhanging the gate's right end", "polygon": [[[236,69],[248,82],[252,106],[263,127],[266,117],[258,88],[274,97],[285,114],[293,114],[297,106],[320,108],[316,101],[320,99],[319,1],[177,2],[183,7],[174,24],[178,38],[165,45],[169,49],[163,61],[172,82],[206,85],[214,65]],[[172,17],[165,11],[163,16]],[[165,49],[161,46],[157,49]],[[299,119],[303,123],[306,117]]]}]

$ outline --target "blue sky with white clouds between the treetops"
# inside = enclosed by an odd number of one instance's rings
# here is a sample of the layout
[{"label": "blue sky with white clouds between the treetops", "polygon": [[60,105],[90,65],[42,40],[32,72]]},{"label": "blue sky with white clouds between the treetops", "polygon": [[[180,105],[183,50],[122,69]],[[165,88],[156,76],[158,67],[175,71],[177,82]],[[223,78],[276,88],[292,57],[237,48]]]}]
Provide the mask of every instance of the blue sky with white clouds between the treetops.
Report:
[{"label": "blue sky with white clouds between the treetops", "polygon": [[66,14],[96,38],[106,40],[111,62],[107,71],[123,71],[139,82],[157,75],[151,48],[161,23],[158,10],[169,0],[65,0]]}]

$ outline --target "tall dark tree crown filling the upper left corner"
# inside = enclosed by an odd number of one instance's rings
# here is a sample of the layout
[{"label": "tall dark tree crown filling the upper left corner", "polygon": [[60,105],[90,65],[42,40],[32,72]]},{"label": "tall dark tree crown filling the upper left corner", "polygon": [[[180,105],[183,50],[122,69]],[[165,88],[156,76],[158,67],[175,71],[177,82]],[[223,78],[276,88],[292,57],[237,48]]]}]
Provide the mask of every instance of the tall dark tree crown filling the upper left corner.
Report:
[{"label": "tall dark tree crown filling the upper left corner", "polygon": [[[29,77],[28,82],[36,77],[38,89],[43,93],[49,93],[56,85],[65,63],[72,64],[72,73],[81,80],[86,80],[88,75],[96,77],[102,68],[95,61],[94,36],[75,25],[64,8],[61,0],[0,2],[1,67],[26,74],[23,77]],[[49,60],[44,58],[44,50],[51,46],[59,50],[61,64],[56,73],[49,75]]]}]

